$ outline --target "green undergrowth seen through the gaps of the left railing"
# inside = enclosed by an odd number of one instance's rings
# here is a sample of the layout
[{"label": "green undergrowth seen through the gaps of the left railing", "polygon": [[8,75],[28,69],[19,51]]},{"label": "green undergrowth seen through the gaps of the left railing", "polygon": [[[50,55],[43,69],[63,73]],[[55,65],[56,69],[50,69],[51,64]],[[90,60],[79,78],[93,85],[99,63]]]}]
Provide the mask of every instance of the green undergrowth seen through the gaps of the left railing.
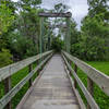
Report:
[{"label": "green undergrowth seen through the gaps of the left railing", "polygon": [[[33,64],[33,69],[36,68],[36,63]],[[20,83],[28,74],[28,66],[20,70],[11,76],[12,87]],[[33,81],[37,77],[37,73],[34,74]],[[27,92],[29,85],[28,82],[22,87],[22,89],[12,98],[12,109],[15,109],[22,97]],[[0,83],[0,98],[4,96],[4,83]]]}]

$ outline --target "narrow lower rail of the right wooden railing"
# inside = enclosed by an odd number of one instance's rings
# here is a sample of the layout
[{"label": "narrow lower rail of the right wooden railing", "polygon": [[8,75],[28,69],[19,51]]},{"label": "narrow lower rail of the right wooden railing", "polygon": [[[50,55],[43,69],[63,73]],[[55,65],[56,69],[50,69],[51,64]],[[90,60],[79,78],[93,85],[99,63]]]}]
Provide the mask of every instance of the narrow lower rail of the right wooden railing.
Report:
[{"label": "narrow lower rail of the right wooden railing", "polygon": [[64,58],[64,60],[65,60],[65,63],[66,63],[68,69],[72,72],[72,74],[75,77],[77,84],[80,85],[80,87],[81,87],[81,89],[82,89],[85,98],[87,99],[87,102],[89,104],[89,106],[92,106],[92,109],[99,109],[98,105],[95,102],[94,98],[88,93],[88,90],[86,89],[86,87],[84,86],[84,84],[82,83],[82,81],[78,78],[78,76],[76,75],[76,73],[74,73],[74,70],[69,64],[69,62],[66,61],[65,58]]}]

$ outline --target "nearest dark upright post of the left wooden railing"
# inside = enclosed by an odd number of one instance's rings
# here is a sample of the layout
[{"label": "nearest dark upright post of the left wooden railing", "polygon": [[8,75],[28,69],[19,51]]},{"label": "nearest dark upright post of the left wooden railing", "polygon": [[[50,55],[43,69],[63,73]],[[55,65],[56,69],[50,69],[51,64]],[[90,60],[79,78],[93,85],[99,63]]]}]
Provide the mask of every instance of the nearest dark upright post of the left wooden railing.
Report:
[{"label": "nearest dark upright post of the left wooden railing", "polygon": [[[11,90],[11,76],[4,80],[4,94]],[[11,101],[5,106],[5,109],[12,109]]]}]

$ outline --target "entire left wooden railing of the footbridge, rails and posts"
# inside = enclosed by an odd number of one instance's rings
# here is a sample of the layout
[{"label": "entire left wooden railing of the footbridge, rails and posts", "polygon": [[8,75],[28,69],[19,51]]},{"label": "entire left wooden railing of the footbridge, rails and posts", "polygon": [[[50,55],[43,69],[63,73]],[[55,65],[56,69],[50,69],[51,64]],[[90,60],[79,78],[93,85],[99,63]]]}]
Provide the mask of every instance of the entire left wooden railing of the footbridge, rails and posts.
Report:
[{"label": "entire left wooden railing of the footbridge, rails and posts", "polygon": [[[5,95],[0,99],[0,109],[3,109],[5,106],[7,109],[11,109],[11,99],[15,96],[16,93],[19,93],[26,82],[29,81],[29,86],[32,85],[33,75],[51,58],[52,53],[52,50],[47,51],[0,69],[0,82],[4,81],[5,83]],[[41,62],[33,70],[32,64],[39,59],[43,59]],[[28,66],[29,73],[16,86],[11,88],[11,75],[25,66]]]}]

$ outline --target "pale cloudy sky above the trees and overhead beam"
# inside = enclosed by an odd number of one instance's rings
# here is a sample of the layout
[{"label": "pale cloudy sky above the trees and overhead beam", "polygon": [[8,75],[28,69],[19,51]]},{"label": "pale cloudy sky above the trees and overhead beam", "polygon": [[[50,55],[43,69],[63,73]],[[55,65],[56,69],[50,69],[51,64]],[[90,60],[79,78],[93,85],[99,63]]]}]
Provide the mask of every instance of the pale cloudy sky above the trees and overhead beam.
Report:
[{"label": "pale cloudy sky above the trees and overhead beam", "polygon": [[43,0],[41,7],[45,9],[52,9],[55,4],[60,2],[70,7],[70,11],[72,12],[72,17],[77,23],[77,28],[80,28],[82,19],[88,12],[87,0]]}]

